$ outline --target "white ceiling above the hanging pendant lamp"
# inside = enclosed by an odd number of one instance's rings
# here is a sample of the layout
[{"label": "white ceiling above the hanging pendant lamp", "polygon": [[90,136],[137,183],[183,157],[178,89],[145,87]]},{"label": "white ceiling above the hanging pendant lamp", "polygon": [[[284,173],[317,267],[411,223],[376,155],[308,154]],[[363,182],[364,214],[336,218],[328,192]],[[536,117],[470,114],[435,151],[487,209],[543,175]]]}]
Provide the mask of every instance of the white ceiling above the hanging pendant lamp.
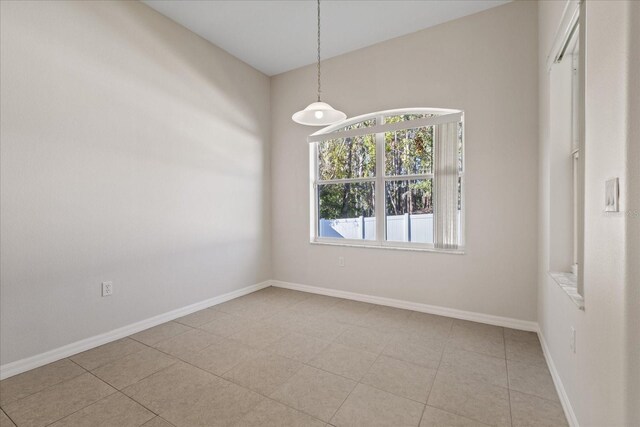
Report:
[{"label": "white ceiling above the hanging pendant lamp", "polygon": [[[143,0],[267,75],[316,61],[313,0]],[[322,58],[331,58],[510,0],[322,1]]]}]

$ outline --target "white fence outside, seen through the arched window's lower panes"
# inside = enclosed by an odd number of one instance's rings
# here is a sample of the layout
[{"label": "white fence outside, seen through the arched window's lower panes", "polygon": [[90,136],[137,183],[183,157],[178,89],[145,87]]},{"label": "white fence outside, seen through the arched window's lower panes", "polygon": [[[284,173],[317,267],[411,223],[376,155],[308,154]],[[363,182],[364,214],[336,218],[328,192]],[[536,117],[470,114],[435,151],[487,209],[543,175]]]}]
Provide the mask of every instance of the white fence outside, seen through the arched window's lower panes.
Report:
[{"label": "white fence outside, seen through the arched window's lower panes", "polygon": [[[375,217],[320,219],[320,237],[374,240]],[[387,216],[387,240],[433,243],[433,214]]]}]

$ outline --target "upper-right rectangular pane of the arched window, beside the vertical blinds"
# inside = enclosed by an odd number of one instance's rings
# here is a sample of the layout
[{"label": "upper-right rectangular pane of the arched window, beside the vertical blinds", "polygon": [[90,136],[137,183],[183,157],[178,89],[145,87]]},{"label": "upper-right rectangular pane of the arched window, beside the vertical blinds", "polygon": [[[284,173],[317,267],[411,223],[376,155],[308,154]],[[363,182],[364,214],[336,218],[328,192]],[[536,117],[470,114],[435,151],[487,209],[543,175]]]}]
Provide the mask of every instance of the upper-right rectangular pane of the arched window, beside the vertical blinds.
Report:
[{"label": "upper-right rectangular pane of the arched window, beside the vertical blinds", "polygon": [[384,139],[387,176],[432,173],[433,126],[387,132]]}]

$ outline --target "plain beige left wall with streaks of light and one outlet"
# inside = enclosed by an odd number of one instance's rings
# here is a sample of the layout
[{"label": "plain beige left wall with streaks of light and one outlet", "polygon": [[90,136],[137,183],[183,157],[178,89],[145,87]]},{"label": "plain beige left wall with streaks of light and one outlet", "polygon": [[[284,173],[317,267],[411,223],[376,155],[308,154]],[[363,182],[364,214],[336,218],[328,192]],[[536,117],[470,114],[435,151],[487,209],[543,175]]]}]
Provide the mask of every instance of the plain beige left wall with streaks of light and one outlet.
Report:
[{"label": "plain beige left wall with streaks of light and one outlet", "polygon": [[269,78],[138,2],[0,4],[1,363],[269,279]]}]

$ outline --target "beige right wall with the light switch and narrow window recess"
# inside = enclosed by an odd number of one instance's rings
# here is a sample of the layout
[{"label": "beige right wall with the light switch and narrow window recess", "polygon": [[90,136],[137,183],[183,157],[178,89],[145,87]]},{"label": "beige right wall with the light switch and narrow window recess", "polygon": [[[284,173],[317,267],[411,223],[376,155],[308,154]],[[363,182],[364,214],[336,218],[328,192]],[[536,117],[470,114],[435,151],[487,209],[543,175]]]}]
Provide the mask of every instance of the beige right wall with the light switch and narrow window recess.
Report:
[{"label": "beige right wall with the light switch and narrow window recess", "polygon": [[[631,215],[638,209],[638,122],[630,114],[638,108],[640,9],[633,2],[590,0],[586,4],[585,311],[580,311],[547,275],[553,181],[549,180],[552,141],[545,62],[563,7],[564,2],[539,3],[538,322],[578,423],[638,425],[640,216]],[[629,99],[633,93],[635,100]],[[603,212],[604,183],[612,177],[620,178],[620,214]],[[630,267],[632,262],[636,267]],[[576,329],[575,354],[569,349],[571,327]]]}]

